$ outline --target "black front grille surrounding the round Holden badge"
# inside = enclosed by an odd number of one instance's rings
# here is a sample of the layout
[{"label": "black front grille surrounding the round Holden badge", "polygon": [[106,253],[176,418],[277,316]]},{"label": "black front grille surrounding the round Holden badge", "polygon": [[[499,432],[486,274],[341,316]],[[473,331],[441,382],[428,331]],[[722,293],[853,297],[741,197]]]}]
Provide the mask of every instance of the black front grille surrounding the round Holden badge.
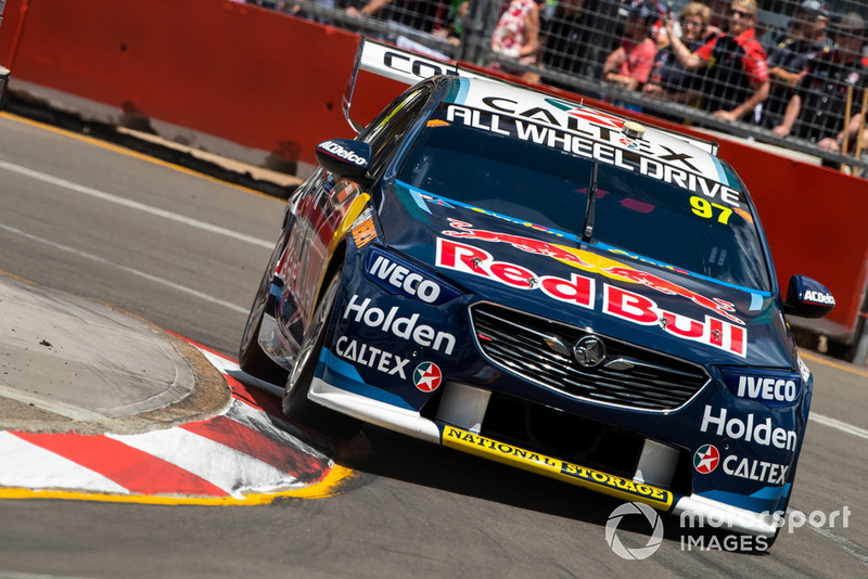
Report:
[{"label": "black front grille surrounding the round Holden badge", "polygon": [[[536,316],[477,304],[471,317],[477,343],[492,362],[578,398],[673,410],[709,382],[700,365]],[[597,335],[605,344],[605,360],[597,368],[579,365],[571,353],[573,344],[587,335]]]}]

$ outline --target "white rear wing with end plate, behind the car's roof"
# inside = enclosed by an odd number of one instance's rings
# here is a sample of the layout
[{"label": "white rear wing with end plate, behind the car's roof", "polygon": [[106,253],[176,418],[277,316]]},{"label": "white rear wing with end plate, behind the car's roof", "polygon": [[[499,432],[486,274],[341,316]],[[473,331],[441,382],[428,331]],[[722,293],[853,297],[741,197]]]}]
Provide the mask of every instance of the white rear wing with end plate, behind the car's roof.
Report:
[{"label": "white rear wing with end plate, behind the car's roof", "polygon": [[[390,78],[407,85],[408,87],[437,75],[454,75],[463,78],[484,78],[489,81],[511,85],[510,82],[496,76],[486,75],[484,73],[478,73],[476,70],[462,67],[455,61],[434,59],[418,52],[400,49],[386,42],[362,37],[359,41],[358,50],[356,51],[356,62],[353,65],[353,73],[347,81],[342,103],[344,117],[346,118],[347,123],[349,123],[349,126],[353,127],[353,130],[357,133],[361,132],[361,130],[365,128],[353,120],[350,116],[353,97],[356,91],[356,82],[358,80],[359,70],[373,73],[378,76]],[[591,108],[582,103],[573,104],[576,104],[577,106],[584,106],[585,108]],[[612,115],[609,112],[605,113],[608,115]],[[630,119],[627,117],[621,117],[620,115],[614,116],[620,117],[624,121],[630,121]],[[663,129],[656,126],[652,128],[656,131],[667,133],[671,137],[701,149],[711,155],[717,156],[718,145],[716,141],[697,139],[688,134]]]}]

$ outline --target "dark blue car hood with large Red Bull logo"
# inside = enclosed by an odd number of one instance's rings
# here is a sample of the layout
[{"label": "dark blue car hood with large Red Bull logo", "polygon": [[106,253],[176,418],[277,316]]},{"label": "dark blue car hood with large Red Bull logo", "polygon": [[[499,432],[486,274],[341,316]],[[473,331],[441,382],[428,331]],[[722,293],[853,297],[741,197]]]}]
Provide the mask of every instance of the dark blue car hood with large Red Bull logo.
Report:
[{"label": "dark blue car hood with large Red Bull logo", "polygon": [[529,222],[386,185],[379,218],[393,249],[486,300],[700,363],[796,366],[779,303],[580,244]]}]

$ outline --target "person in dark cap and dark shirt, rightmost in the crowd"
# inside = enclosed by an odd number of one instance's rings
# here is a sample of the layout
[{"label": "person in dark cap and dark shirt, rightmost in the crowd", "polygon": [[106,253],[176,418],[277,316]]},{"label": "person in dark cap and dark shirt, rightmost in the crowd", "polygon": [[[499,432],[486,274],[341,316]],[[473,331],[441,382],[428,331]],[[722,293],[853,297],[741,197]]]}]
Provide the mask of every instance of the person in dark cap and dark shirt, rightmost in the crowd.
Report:
[{"label": "person in dark cap and dark shirt, rightmost in the crowd", "polygon": [[842,149],[844,141],[852,146],[859,137],[863,91],[868,88],[865,20],[856,12],[847,12],[831,25],[831,35],[835,49],[810,61],[787,108],[784,123],[795,127],[796,137],[817,143],[821,151],[846,153]]}]

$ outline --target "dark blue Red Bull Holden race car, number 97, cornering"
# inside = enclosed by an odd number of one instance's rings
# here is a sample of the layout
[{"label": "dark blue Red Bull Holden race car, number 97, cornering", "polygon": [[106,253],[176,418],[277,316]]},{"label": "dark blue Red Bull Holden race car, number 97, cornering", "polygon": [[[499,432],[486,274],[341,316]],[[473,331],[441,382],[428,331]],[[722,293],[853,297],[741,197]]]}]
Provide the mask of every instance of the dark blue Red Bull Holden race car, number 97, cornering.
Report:
[{"label": "dark blue Red Bull Holden race car, number 97, cornering", "polygon": [[[284,412],[774,538],[813,378],[716,144],[363,40],[412,85],[317,147],[242,336]],[[420,78],[427,76],[429,78]],[[350,124],[355,125],[350,119]]]}]

